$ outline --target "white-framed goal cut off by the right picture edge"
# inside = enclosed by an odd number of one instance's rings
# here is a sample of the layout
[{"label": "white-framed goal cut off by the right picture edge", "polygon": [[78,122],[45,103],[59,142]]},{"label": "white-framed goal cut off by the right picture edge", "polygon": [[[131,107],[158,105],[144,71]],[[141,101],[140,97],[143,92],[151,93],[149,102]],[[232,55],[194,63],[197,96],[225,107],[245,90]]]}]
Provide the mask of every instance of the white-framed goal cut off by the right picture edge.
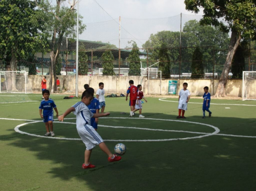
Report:
[{"label": "white-framed goal cut off by the right picture edge", "polygon": [[256,71],[243,72],[243,100],[256,100]]}]

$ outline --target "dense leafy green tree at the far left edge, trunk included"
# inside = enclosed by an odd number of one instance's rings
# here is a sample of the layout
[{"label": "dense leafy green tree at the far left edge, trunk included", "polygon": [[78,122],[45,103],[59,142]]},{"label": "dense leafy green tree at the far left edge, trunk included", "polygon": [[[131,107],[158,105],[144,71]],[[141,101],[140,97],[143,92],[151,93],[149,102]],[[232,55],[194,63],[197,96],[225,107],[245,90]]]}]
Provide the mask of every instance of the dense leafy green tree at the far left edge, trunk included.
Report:
[{"label": "dense leafy green tree at the far left edge, trunk included", "polygon": [[[11,71],[17,70],[18,59],[45,48],[48,37],[44,33],[46,24],[35,1],[1,0],[0,23],[0,56],[6,56],[10,61]],[[12,90],[16,91],[15,80],[12,82]]]}]

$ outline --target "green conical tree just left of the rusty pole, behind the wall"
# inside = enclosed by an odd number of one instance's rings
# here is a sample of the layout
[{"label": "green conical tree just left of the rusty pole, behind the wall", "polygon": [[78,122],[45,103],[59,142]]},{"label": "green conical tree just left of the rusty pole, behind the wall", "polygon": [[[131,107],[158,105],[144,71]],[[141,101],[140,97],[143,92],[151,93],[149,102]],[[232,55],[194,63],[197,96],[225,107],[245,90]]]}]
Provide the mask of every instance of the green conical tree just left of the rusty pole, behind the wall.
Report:
[{"label": "green conical tree just left of the rusty pole, behind the wall", "polygon": [[102,54],[103,59],[103,75],[115,75],[114,72],[114,64],[113,61],[115,60],[112,52],[110,50],[105,50]]}]

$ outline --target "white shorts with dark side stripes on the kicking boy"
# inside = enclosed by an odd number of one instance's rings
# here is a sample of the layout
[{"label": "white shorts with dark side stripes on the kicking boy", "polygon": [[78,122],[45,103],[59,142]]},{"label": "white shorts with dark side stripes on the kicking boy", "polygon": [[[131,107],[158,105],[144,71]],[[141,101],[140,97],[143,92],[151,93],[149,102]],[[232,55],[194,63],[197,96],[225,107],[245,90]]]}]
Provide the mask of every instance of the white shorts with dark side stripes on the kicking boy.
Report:
[{"label": "white shorts with dark side stripes on the kicking boy", "polygon": [[97,133],[97,131],[95,131],[95,129],[88,124],[76,129],[86,146],[86,150],[91,150],[96,145],[104,142],[101,136]]}]

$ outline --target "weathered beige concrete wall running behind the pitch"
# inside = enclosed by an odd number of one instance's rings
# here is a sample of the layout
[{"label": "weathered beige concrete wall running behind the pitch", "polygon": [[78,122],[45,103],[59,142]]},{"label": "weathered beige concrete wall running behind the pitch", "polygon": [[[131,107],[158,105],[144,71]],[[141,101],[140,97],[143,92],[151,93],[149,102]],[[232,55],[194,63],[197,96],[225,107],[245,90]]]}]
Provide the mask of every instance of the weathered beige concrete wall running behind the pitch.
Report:
[{"label": "weathered beige concrete wall running behind the pitch", "polygon": [[[71,90],[75,92],[75,76],[68,75],[58,76],[60,80],[60,86],[62,88],[63,84],[67,90]],[[84,84],[89,84],[90,87],[93,87],[95,90],[98,89],[99,82],[104,83],[104,89],[106,93],[126,93],[127,88],[129,87],[129,80],[132,79],[134,81],[134,85],[141,84],[143,86],[144,94],[160,94],[160,80],[150,80],[148,82],[145,76],[87,76],[87,75],[79,75],[79,92],[84,91]],[[49,76],[46,76],[47,87],[49,87]],[[172,79],[163,79],[161,81],[161,94],[168,95],[168,86],[169,80]],[[176,80],[176,79],[173,79]],[[29,75],[29,81],[32,86],[33,91],[41,91],[41,81],[42,76],[40,75]],[[177,94],[180,89],[182,89],[182,84],[184,82],[188,83],[188,89],[192,96],[201,96],[203,95],[203,87],[208,86],[209,92],[213,95],[216,92],[218,80],[177,80]],[[149,87],[149,89],[148,89]],[[229,97],[241,97],[242,96],[242,80],[228,80],[226,94]]]}]

